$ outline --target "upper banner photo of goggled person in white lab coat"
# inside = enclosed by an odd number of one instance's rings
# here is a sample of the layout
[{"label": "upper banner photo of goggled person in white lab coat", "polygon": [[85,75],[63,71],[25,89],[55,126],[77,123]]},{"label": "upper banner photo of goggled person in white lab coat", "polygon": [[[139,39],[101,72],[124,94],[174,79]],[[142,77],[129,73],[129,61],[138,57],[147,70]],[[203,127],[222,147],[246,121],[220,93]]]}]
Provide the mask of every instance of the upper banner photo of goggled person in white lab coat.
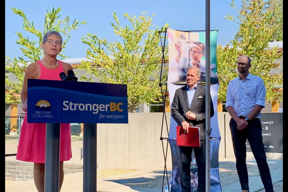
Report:
[{"label": "upper banner photo of goggled person in white lab coat", "polygon": [[[218,83],[216,42],[218,31],[210,32],[210,81]],[[169,46],[169,74],[167,82],[186,81],[187,69],[194,65],[200,68],[199,82],[205,82],[205,32],[183,32],[167,28]]]}]

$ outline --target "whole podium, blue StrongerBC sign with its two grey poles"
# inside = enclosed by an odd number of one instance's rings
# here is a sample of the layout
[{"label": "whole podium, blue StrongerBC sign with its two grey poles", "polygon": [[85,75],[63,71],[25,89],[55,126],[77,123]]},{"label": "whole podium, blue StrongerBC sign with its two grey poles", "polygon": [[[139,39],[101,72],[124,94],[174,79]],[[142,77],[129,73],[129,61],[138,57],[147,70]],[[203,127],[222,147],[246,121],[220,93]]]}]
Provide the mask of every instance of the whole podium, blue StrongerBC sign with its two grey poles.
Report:
[{"label": "whole podium, blue StrongerBC sign with its two grey poles", "polygon": [[27,91],[27,122],[46,123],[45,192],[59,191],[60,123],[84,123],[83,192],[97,191],[97,123],[128,123],[127,85],[28,79]]}]

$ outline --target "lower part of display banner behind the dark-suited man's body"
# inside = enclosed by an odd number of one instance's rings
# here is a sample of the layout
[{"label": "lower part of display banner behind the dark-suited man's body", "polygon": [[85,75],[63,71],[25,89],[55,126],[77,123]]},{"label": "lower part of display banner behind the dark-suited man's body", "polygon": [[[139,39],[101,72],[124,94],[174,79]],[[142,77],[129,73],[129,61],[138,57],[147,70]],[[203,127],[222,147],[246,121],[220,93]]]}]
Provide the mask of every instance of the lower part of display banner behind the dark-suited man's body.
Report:
[{"label": "lower part of display banner behind the dark-suited man's body", "polygon": [[[170,106],[172,106],[173,98],[176,89],[182,87],[183,85],[175,85],[173,83],[167,83],[169,95],[170,95]],[[214,116],[211,118],[211,137],[210,140],[210,191],[221,192],[221,184],[219,178],[219,164],[218,164],[218,154],[220,145],[220,132],[218,127],[217,118],[217,95],[218,95],[219,83],[210,86],[210,94],[213,101],[213,107],[215,110]],[[172,186],[171,192],[181,192],[180,188],[180,151],[179,146],[177,146],[176,141],[176,121],[170,117],[170,131],[169,131],[169,143],[172,153]],[[179,169],[178,169],[179,168]],[[197,162],[195,160],[194,152],[192,152],[192,161],[190,166],[191,174],[191,192],[197,191],[198,186],[198,175],[197,175]]]}]

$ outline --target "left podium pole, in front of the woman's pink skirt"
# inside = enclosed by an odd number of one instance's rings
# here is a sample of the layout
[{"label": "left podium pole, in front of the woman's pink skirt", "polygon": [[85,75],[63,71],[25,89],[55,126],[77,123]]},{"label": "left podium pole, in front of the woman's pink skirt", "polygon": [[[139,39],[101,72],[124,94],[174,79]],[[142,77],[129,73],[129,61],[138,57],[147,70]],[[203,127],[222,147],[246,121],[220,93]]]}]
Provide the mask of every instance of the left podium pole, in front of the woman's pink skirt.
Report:
[{"label": "left podium pole, in front of the woman's pink skirt", "polygon": [[59,192],[60,123],[46,123],[44,191]]}]

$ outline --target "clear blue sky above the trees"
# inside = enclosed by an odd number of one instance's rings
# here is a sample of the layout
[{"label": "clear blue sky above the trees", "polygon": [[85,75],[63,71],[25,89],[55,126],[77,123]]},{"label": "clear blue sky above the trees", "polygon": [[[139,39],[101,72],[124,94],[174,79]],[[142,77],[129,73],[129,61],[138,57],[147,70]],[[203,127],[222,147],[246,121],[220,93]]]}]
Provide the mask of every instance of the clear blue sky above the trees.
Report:
[{"label": "clear blue sky above the trees", "polygon": [[[53,4],[54,3],[54,4]],[[228,14],[235,15],[236,11],[230,7],[232,0],[210,1],[210,29],[218,30],[217,44],[226,45],[233,39],[238,31],[234,22],[225,19]],[[241,6],[241,1],[236,1],[236,7]],[[121,26],[128,24],[128,19],[123,14],[132,13],[140,16],[141,11],[148,11],[153,17],[153,24],[161,28],[166,23],[169,28],[182,31],[205,31],[205,0],[5,0],[5,56],[10,58],[22,56],[20,46],[16,44],[18,36],[15,32],[21,32],[24,37],[35,39],[35,35],[22,29],[22,17],[12,12],[10,7],[21,9],[29,22],[34,23],[36,29],[43,31],[45,13],[52,7],[61,7],[60,19],[69,16],[70,23],[74,19],[87,24],[80,25],[77,30],[70,32],[71,38],[66,44],[64,55],[70,58],[85,57],[88,45],[82,43],[81,37],[86,33],[95,34],[98,38],[106,38],[107,41],[119,41],[114,35],[111,23],[115,23],[113,12],[116,12]],[[36,39],[35,39],[36,40]]]}]

